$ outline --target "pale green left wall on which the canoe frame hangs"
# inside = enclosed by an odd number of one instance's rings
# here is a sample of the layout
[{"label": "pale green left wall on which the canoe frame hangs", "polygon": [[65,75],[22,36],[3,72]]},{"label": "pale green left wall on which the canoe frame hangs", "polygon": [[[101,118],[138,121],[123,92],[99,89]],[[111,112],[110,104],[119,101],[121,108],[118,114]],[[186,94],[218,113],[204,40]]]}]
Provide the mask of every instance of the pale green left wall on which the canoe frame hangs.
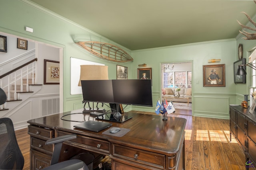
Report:
[{"label": "pale green left wall on which the canoe frame hangs", "polygon": [[[108,66],[109,79],[116,79],[116,64],[120,64],[90,55],[86,50],[76,45],[75,41],[112,43],[131,54],[129,49],[26,0],[1,0],[0,21],[0,31],[2,32],[63,48],[63,111],[70,111],[83,106],[82,95],[70,95],[70,57],[105,64]],[[32,27],[34,32],[26,32],[26,26]],[[121,65],[131,68],[131,64],[132,62]],[[131,78],[130,75],[128,74],[128,78]]]}]

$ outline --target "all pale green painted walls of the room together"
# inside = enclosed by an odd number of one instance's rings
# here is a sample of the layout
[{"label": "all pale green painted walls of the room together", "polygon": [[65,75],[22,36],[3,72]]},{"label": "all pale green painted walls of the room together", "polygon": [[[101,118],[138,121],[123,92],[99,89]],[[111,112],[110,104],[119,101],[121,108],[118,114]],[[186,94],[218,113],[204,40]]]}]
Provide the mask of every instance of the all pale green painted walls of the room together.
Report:
[{"label": "all pale green painted walls of the room together", "polygon": [[[22,15],[21,15],[22,14]],[[63,48],[63,105],[64,111],[82,107],[82,95],[70,95],[70,57],[85,59],[108,66],[109,79],[116,79],[116,65],[128,67],[128,78],[137,78],[138,64],[146,63],[152,68],[153,102],[160,98],[160,63],[192,61],[192,112],[195,116],[228,118],[228,105],[239,104],[242,94],[248,91],[248,84],[234,84],[233,63],[237,58],[239,43],[244,44],[245,51],[254,47],[255,41],[227,39],[187,45],[177,45],[156,49],[130,51],[101,35],[81,27],[72,21],[56,16],[26,0],[1,0],[0,31],[20,37],[40,41]],[[25,31],[32,27],[34,33]],[[99,59],[87,53],[74,41],[101,41],[115,44],[128,52],[134,61],[114,63]],[[248,43],[248,44],[247,44]],[[226,68],[226,87],[203,87],[203,65],[209,59],[221,59]],[[198,81],[198,84],[196,84]],[[247,91],[246,91],[247,89]],[[247,92],[248,93],[248,92]],[[128,109],[154,111],[154,107],[132,106]]]}]

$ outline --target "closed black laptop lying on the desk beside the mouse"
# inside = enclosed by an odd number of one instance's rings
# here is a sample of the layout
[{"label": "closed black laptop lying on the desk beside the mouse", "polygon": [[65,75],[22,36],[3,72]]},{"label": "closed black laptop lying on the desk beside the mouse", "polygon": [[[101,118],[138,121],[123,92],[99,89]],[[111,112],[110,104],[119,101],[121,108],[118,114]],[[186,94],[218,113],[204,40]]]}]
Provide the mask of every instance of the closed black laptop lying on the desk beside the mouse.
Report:
[{"label": "closed black laptop lying on the desk beside the mouse", "polygon": [[112,126],[112,123],[104,122],[104,121],[93,121],[93,120],[85,121],[83,123],[74,125],[74,127],[76,128],[84,129],[88,131],[94,131],[94,132],[102,131],[103,129],[106,129],[110,126]]}]

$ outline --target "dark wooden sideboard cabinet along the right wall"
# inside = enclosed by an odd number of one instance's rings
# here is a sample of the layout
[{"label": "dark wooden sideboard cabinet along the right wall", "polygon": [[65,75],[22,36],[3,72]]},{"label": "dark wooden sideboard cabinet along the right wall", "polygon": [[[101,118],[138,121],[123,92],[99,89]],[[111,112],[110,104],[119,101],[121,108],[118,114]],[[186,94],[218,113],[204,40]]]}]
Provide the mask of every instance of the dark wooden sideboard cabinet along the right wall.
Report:
[{"label": "dark wooden sideboard cabinet along the right wall", "polygon": [[233,134],[244,150],[247,170],[256,168],[256,111],[249,109],[230,105],[230,141]]}]

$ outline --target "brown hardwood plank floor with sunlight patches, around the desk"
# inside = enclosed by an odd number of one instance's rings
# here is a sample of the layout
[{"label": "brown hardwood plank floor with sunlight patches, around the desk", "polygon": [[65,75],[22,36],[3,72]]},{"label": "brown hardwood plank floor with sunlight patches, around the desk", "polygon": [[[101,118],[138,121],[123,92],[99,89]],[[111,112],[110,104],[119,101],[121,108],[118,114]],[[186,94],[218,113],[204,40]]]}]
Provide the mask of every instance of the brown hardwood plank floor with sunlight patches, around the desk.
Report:
[{"label": "brown hardwood plank floor with sunlight patches, around the desk", "polygon": [[[187,114],[176,109],[176,113]],[[142,111],[133,111],[142,113]],[[155,114],[154,112],[143,112]],[[186,170],[245,170],[245,156],[236,139],[230,142],[229,120],[170,114],[187,119],[185,135]],[[162,116],[162,115],[159,115]],[[24,170],[30,167],[30,137],[27,128],[17,130],[16,137],[25,159]],[[255,168],[250,168],[254,169]]]}]

